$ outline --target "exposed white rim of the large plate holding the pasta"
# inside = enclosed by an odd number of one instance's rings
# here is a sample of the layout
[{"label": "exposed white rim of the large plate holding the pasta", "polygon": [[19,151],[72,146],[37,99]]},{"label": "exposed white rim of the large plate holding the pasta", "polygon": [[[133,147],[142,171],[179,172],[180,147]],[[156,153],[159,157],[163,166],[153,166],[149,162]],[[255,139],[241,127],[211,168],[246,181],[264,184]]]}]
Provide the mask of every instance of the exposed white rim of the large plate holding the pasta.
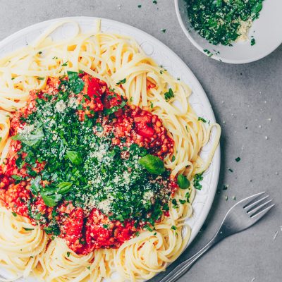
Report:
[{"label": "exposed white rim of the large plate holding the pasta", "polygon": [[[37,23],[23,30],[20,30],[13,35],[7,37],[0,42],[0,57],[4,54],[8,54],[20,47],[24,47],[29,44],[39,35],[44,32],[50,25],[61,21],[61,20],[75,20],[80,25],[82,32],[87,32],[95,27],[97,18],[91,17],[73,17],[73,18],[61,18],[44,21],[42,23]],[[54,39],[66,39],[68,35],[72,33],[73,25],[66,24],[59,27],[52,37]],[[115,32],[123,35],[130,35],[134,37],[140,44],[142,49],[148,56],[151,56],[159,65],[164,66],[174,77],[180,78],[186,82],[192,88],[192,95],[190,96],[190,104],[192,104],[193,109],[197,112],[199,116],[202,116],[207,121],[211,123],[215,122],[214,112],[212,111],[212,106],[209,103],[209,99],[205,94],[200,82],[195,78],[190,68],[185,65],[185,63],[173,52],[168,49],[166,45],[159,42],[151,35],[138,30],[130,25],[125,25],[124,23],[119,23],[114,20],[102,19],[102,31],[104,32]],[[208,144],[202,149],[201,156],[205,159],[209,150],[212,148],[212,142],[214,140],[215,133],[212,133]],[[194,213],[190,219],[186,222],[192,228],[192,233],[188,245],[194,240],[197,233],[200,231],[202,224],[204,223],[207,215],[209,214],[209,209],[212,207],[212,202],[214,200],[214,195],[216,193],[217,183],[219,179],[219,168],[220,168],[220,149],[216,149],[214,154],[214,159],[212,164],[209,166],[207,171],[204,173],[204,179],[202,180],[202,190],[197,190],[197,195],[192,207]],[[185,234],[183,234],[185,235]],[[0,269],[0,275],[4,274]],[[32,278],[27,280],[20,279],[18,281],[34,281]]]}]

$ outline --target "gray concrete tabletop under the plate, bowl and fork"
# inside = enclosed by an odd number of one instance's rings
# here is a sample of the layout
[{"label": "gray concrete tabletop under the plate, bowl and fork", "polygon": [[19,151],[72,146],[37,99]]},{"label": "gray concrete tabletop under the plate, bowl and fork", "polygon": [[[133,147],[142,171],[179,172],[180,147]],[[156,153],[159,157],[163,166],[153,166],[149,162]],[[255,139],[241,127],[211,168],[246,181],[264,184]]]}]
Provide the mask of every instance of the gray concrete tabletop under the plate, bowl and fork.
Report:
[{"label": "gray concrete tabletop under the plate, bowl and fork", "polygon": [[[219,63],[190,44],[178,25],[173,0],[157,2],[0,0],[0,39],[42,20],[99,16],[138,27],[173,49],[202,83],[222,125],[221,193],[216,195],[202,232],[185,256],[192,255],[212,237],[235,203],[233,196],[238,201],[266,190],[276,202],[275,209],[264,220],[217,245],[180,281],[281,282],[282,46],[255,63]],[[141,8],[137,7],[139,4]],[[163,28],[166,33],[161,32]],[[241,161],[237,163],[236,157]],[[228,190],[222,190],[224,184],[229,185]]]}]

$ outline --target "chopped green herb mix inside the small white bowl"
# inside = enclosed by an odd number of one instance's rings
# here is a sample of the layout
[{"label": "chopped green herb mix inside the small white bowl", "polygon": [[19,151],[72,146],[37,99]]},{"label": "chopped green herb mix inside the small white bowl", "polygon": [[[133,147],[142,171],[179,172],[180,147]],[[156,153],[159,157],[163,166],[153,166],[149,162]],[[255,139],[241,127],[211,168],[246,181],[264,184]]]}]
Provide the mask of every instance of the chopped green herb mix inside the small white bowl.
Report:
[{"label": "chopped green herb mix inside the small white bowl", "polygon": [[264,0],[185,1],[190,23],[202,37],[214,45],[232,46],[241,35],[243,22],[250,25],[259,18]]}]

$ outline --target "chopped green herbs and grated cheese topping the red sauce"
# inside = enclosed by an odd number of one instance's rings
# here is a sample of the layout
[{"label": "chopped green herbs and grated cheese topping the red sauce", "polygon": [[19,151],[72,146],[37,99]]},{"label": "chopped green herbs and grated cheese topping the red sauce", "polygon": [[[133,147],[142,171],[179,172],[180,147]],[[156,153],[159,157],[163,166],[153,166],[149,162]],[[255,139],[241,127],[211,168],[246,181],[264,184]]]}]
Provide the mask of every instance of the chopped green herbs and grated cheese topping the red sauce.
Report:
[{"label": "chopped green herbs and grated cheese topping the red sauce", "polygon": [[[117,84],[125,82],[123,79]],[[112,144],[112,133],[96,135],[93,128],[98,133],[104,130],[97,115],[85,116],[84,121],[80,121],[77,111],[83,109],[81,104],[69,105],[71,97],[80,94],[84,87],[80,75],[68,71],[67,77],[61,78],[55,99],[46,93],[35,100],[37,110],[24,121],[30,130],[13,136],[22,145],[16,165],[18,168],[26,166],[32,178],[30,192],[34,197],[27,205],[30,207],[32,201],[41,196],[48,207],[54,207],[54,213],[63,201],[68,201],[75,207],[90,210],[98,207],[110,220],[149,221],[153,226],[168,210],[171,194],[160,191],[166,188],[169,171],[159,157],[149,154],[143,147],[133,144],[121,149]],[[63,106],[63,111],[58,110],[58,104]],[[120,105],[100,114],[110,116],[125,104],[123,99]],[[128,154],[127,159],[121,157],[122,152]],[[37,162],[44,164],[42,171],[35,169]],[[162,180],[156,180],[157,176]],[[14,178],[21,180],[20,176]],[[44,213],[29,209],[29,216],[38,224],[49,223],[44,228],[47,233],[60,233],[56,221],[50,221]]]}]

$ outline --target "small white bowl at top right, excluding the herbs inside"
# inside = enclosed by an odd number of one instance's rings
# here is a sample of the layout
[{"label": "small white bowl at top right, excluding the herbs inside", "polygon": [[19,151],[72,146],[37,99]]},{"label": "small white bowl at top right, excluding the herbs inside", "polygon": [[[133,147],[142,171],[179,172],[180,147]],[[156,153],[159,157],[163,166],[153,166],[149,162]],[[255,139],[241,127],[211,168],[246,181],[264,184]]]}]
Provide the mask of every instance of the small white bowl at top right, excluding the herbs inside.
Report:
[{"label": "small white bowl at top right, excluding the herbs inside", "polygon": [[[250,28],[249,37],[254,36],[255,45],[250,39],[234,42],[233,47],[210,44],[191,27],[185,0],[174,0],[176,14],[185,35],[202,53],[225,63],[250,63],[269,55],[282,43],[282,0],[264,0],[260,16]],[[204,50],[209,50],[205,52]]]}]

